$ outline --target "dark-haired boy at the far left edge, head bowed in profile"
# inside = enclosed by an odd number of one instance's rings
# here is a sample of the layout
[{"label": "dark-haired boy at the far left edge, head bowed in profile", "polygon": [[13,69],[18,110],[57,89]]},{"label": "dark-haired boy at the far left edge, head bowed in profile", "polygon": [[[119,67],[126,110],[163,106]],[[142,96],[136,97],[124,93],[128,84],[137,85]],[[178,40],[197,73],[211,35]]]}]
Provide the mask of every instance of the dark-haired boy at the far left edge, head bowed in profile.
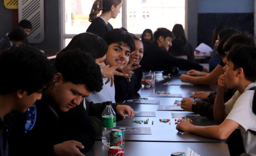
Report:
[{"label": "dark-haired boy at the far left edge, head bowed in profile", "polygon": [[8,156],[11,111],[26,112],[41,99],[53,77],[47,57],[32,47],[12,47],[0,54],[0,156]]}]

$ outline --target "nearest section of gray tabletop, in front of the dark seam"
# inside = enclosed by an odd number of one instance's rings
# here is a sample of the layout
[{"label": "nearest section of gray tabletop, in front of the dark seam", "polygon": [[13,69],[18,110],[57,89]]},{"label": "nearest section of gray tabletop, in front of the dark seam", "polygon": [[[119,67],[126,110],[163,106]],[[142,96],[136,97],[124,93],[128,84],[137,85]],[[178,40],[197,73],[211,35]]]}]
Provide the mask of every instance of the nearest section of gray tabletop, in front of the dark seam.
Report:
[{"label": "nearest section of gray tabletop, in front of the dark seam", "polygon": [[[125,156],[171,156],[173,152],[186,153],[187,147],[201,156],[230,156],[226,143],[198,142],[125,142]],[[109,147],[96,141],[86,156],[108,156]]]}]

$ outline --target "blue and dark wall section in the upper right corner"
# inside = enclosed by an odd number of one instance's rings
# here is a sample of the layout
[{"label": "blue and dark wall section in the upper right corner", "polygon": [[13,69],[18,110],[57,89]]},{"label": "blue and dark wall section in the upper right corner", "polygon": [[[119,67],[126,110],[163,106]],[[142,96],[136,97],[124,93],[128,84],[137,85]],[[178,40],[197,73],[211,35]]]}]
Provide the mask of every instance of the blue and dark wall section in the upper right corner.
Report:
[{"label": "blue and dark wall section in the upper right corner", "polygon": [[254,34],[254,0],[198,0],[198,44],[210,44],[219,25]]}]

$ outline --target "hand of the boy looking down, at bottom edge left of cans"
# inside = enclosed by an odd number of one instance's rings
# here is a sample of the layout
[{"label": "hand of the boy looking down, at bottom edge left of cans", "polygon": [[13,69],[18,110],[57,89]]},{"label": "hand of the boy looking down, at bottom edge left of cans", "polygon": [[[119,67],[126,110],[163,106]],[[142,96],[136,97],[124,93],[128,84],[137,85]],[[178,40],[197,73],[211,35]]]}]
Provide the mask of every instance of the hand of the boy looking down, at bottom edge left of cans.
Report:
[{"label": "hand of the boy looking down, at bottom edge left of cans", "polygon": [[84,149],[81,142],[70,140],[53,146],[56,156],[84,156],[80,149]]}]

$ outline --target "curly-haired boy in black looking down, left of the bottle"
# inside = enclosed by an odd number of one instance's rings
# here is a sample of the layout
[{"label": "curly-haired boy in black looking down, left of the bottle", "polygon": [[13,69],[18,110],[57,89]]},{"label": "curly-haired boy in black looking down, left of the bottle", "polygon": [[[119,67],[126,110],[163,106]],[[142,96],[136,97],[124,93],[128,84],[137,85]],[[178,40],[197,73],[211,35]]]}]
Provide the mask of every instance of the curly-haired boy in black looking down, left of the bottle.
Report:
[{"label": "curly-haired boy in black looking down, left of the bottle", "polygon": [[[90,105],[85,110],[81,101],[91,92],[102,89],[99,65],[89,54],[73,50],[59,53],[55,60],[55,68],[54,86],[47,89],[42,99],[35,103],[36,113],[28,110],[27,117],[25,116],[26,125],[30,124],[31,127],[16,123],[13,128],[9,144],[10,149],[12,148],[10,156],[83,156],[81,152],[93,145],[95,131],[87,114]],[[96,106],[100,109],[93,110],[92,106],[89,112],[99,112],[101,115],[105,105]],[[118,114],[124,117],[124,113],[128,113],[128,117],[134,116],[129,106],[116,105],[114,108],[117,118],[121,118]],[[36,114],[35,123],[30,122],[29,114]],[[19,119],[23,118],[24,116]],[[29,151],[26,147],[29,147]]]}]

